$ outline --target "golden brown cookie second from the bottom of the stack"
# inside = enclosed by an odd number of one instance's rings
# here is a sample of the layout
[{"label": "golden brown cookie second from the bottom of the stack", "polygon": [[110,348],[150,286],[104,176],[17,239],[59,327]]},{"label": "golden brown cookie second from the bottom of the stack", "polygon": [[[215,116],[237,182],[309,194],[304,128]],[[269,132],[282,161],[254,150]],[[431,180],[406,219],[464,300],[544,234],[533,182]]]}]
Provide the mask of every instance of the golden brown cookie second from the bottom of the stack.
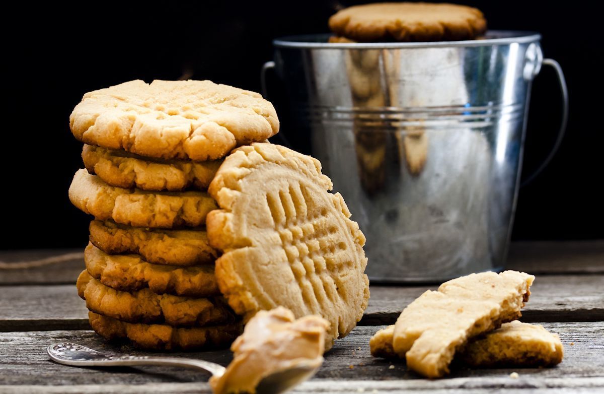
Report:
[{"label": "golden brown cookie second from the bottom of the stack", "polygon": [[221,297],[194,299],[159,295],[149,289],[117,291],[98,282],[86,270],[78,277],[76,286],[89,310],[129,323],[204,326],[234,321]]}]

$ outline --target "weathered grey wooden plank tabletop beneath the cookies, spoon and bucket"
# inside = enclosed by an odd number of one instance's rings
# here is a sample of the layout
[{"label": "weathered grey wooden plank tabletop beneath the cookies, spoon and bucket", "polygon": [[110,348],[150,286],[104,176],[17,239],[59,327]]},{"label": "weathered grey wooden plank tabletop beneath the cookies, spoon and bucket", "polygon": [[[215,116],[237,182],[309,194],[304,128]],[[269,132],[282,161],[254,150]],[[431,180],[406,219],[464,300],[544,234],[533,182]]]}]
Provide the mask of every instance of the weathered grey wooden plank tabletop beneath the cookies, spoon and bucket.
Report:
[{"label": "weathered grey wooden plank tabletop beneath the cookies, spoon and bucket", "polygon": [[[62,262],[49,258],[65,256]],[[18,268],[22,262],[37,265]],[[29,264],[31,265],[31,264]],[[316,376],[296,393],[604,392],[604,241],[512,245],[507,268],[536,275],[522,321],[560,335],[564,361],[548,369],[467,369],[455,364],[445,379],[423,379],[404,361],[373,358],[369,338],[436,286],[371,286],[359,326],[336,341]],[[108,353],[145,352],[107,343],[91,331],[76,294],[82,254],[74,250],[0,252],[0,393],[209,393],[208,376],[167,367],[94,369],[55,364],[45,348],[72,341]],[[146,353],[149,354],[149,353]],[[228,350],[175,353],[226,365]],[[518,372],[519,378],[510,378]]]}]

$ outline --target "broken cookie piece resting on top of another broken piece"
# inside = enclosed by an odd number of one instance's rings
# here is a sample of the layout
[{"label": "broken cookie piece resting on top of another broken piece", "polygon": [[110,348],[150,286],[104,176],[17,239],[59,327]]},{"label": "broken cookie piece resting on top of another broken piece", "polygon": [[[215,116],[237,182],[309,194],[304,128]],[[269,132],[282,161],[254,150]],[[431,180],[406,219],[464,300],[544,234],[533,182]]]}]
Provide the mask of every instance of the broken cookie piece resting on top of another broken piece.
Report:
[{"label": "broken cookie piece resting on top of another broken piece", "polygon": [[534,279],[517,271],[471,274],[424,292],[396,320],[394,352],[415,372],[442,377],[470,338],[521,315]]}]

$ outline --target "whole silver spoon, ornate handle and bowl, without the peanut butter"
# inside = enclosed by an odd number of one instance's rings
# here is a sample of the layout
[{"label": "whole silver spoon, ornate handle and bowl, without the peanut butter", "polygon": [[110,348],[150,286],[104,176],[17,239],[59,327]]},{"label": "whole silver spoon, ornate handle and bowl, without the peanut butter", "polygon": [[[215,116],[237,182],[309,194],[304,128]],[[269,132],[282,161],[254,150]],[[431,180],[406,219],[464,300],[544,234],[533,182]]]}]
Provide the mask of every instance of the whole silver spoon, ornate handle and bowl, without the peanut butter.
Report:
[{"label": "whole silver spoon, ornate handle and bowl, without the peanut butter", "polygon": [[[76,367],[117,367],[159,365],[201,369],[220,377],[226,368],[210,361],[195,360],[184,357],[153,357],[153,356],[108,356],[97,350],[90,349],[72,342],[51,344],[47,349],[50,359],[59,364]],[[257,394],[278,394],[291,389],[314,375],[318,366],[301,363],[296,367],[279,370],[265,376],[256,387]]]}]

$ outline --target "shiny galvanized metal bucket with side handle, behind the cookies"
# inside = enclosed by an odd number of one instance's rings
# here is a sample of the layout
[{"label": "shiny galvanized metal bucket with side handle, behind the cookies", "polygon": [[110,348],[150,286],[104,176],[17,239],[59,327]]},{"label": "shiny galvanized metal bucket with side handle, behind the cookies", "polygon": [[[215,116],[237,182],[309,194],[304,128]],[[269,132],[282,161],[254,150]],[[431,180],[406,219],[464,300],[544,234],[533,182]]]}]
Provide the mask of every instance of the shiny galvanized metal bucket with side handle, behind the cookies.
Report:
[{"label": "shiny galvanized metal bucket with side handle, behind the cookies", "polygon": [[275,68],[299,128],[289,132],[310,133],[312,155],[367,237],[370,279],[442,282],[502,270],[528,97],[542,64],[556,68],[565,92],[557,63],[543,60],[541,36],[490,31],[480,40],[388,44],[328,37],[274,40],[263,89]]}]

